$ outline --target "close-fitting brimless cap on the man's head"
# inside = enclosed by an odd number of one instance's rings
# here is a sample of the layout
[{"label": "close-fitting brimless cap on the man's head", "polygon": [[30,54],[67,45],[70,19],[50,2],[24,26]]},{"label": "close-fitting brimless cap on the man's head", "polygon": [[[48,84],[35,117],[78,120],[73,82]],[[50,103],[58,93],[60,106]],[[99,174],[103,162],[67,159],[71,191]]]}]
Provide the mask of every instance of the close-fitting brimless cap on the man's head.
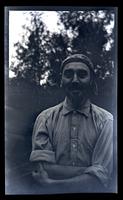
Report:
[{"label": "close-fitting brimless cap on the man's head", "polygon": [[74,54],[71,56],[68,56],[65,60],[63,60],[62,64],[61,64],[61,72],[64,68],[64,66],[70,62],[82,62],[85,63],[90,70],[92,70],[94,72],[94,65],[91,62],[91,60],[85,56],[84,54]]}]

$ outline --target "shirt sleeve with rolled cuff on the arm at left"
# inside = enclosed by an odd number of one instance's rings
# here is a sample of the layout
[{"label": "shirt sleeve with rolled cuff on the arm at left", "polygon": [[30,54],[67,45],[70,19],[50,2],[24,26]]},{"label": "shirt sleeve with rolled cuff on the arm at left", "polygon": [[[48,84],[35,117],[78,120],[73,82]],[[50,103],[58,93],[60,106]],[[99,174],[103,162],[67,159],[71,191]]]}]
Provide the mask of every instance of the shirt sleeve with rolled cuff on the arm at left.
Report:
[{"label": "shirt sleeve with rolled cuff on the arm at left", "polygon": [[32,152],[30,161],[47,161],[55,163],[55,153],[49,137],[47,117],[40,114],[33,128],[32,134]]}]

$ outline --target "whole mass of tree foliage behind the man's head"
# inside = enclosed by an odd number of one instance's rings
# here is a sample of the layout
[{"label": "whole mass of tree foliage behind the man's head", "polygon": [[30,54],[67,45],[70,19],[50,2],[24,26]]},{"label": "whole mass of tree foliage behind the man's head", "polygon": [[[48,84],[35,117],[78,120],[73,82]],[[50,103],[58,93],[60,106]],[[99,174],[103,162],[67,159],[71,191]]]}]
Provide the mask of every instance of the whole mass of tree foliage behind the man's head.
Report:
[{"label": "whole mass of tree foliage behind the man's head", "polygon": [[91,58],[98,79],[114,78],[115,33],[114,29],[106,31],[114,19],[114,10],[58,11],[59,24],[64,28],[53,34],[46,29],[41,13],[30,14],[31,27],[24,26],[29,37],[15,44],[18,64],[11,63],[17,80],[40,85],[47,76],[46,85],[59,85],[61,62],[73,53],[84,53]]}]

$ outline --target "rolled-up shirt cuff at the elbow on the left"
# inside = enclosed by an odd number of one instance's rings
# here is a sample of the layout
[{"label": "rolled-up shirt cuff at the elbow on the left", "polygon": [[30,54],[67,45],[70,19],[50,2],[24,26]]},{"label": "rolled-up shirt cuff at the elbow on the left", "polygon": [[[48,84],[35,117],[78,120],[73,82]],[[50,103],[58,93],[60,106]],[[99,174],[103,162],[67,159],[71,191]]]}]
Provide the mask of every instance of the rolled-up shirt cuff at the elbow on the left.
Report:
[{"label": "rolled-up shirt cuff at the elbow on the left", "polygon": [[31,152],[30,161],[47,161],[56,163],[55,153],[49,150],[34,150]]}]

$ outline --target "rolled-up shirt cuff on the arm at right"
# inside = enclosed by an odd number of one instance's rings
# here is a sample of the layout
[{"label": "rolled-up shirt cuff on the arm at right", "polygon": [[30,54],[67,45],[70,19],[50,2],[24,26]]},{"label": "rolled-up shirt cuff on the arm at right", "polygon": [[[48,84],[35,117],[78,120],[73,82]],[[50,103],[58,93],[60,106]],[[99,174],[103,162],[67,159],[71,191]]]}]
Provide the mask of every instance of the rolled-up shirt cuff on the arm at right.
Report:
[{"label": "rolled-up shirt cuff on the arm at right", "polygon": [[97,178],[100,179],[104,187],[108,186],[109,176],[108,170],[101,165],[93,165],[84,171],[84,173],[95,175]]}]

